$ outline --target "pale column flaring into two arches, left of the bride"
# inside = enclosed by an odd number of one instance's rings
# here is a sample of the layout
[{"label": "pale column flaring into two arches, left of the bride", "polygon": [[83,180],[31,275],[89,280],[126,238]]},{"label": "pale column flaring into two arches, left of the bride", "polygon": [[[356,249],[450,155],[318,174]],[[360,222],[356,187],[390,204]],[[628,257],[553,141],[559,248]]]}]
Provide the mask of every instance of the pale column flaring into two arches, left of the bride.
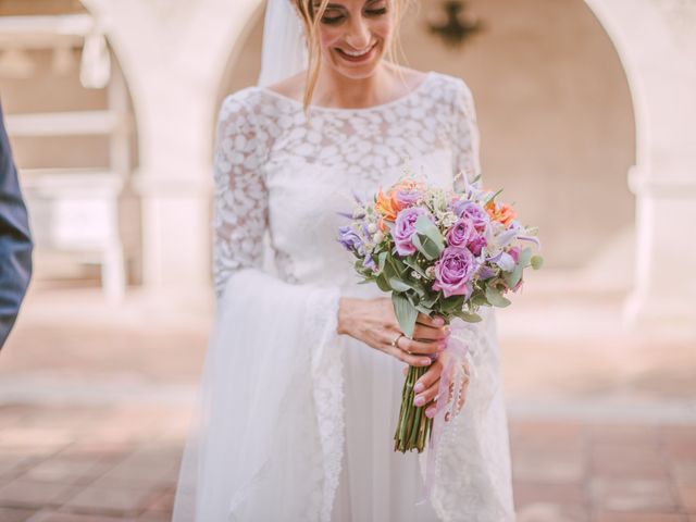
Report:
[{"label": "pale column flaring into two arches, left of the bride", "polygon": [[85,0],[104,25],[134,101],[144,283],[210,291],[211,154],[220,83],[261,0]]}]

